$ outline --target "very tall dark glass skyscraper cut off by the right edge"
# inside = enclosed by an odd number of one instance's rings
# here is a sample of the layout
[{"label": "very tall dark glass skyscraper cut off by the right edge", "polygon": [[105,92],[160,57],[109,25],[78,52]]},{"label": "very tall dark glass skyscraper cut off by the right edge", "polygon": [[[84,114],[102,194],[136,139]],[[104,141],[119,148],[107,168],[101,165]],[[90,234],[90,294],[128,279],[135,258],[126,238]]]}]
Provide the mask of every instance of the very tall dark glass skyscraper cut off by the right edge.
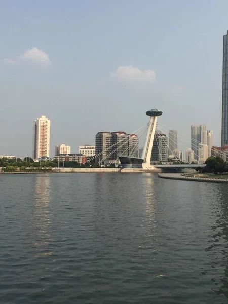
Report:
[{"label": "very tall dark glass skyscraper cut off by the right edge", "polygon": [[221,146],[228,145],[228,31],[223,36]]}]

